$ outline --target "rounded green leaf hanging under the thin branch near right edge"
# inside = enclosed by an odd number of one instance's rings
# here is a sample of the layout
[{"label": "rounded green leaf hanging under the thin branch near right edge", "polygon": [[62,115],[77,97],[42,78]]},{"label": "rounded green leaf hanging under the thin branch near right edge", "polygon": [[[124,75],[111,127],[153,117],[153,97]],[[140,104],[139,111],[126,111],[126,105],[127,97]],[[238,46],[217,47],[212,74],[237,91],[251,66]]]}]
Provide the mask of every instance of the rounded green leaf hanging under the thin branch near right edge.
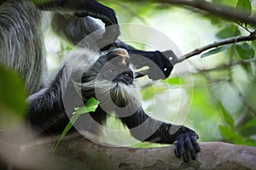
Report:
[{"label": "rounded green leaf hanging under the thin branch near right edge", "polygon": [[253,59],[254,50],[247,42],[242,44],[236,44],[236,51],[241,57],[241,59]]}]

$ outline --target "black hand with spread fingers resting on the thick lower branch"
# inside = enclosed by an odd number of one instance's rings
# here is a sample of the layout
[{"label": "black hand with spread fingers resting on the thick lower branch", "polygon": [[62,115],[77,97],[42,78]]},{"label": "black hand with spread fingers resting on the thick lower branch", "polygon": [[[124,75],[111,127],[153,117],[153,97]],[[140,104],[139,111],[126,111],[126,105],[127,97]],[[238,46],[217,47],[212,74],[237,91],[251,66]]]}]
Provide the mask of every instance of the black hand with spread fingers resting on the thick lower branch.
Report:
[{"label": "black hand with spread fingers resting on the thick lower branch", "polygon": [[190,130],[186,133],[181,133],[177,136],[174,144],[175,156],[183,156],[183,161],[189,161],[189,150],[190,157],[195,160],[196,153],[200,151],[199,144],[197,143],[198,135]]}]

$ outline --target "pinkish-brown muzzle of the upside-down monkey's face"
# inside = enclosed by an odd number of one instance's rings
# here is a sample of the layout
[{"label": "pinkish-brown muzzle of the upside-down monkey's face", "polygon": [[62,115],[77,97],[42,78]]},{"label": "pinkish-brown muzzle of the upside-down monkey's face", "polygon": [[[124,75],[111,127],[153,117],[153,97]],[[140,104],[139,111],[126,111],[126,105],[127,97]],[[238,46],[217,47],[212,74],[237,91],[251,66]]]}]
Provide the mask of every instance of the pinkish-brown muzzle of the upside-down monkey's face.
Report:
[{"label": "pinkish-brown muzzle of the upside-down monkey's face", "polygon": [[127,51],[123,48],[116,48],[108,53],[108,61],[113,60],[120,66],[127,67],[130,65],[130,57]]}]

